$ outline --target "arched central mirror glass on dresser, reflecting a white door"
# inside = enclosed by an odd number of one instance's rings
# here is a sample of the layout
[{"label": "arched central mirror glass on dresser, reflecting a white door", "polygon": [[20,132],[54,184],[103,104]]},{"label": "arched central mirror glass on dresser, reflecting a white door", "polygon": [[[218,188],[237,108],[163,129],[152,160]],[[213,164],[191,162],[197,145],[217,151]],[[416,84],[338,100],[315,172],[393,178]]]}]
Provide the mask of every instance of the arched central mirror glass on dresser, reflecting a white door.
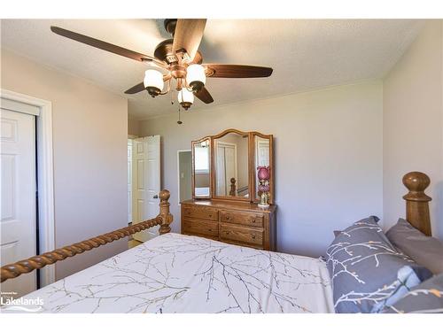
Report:
[{"label": "arched central mirror glass on dresser, reflecting a white door", "polygon": [[215,195],[249,197],[248,135],[229,133],[214,140]]}]

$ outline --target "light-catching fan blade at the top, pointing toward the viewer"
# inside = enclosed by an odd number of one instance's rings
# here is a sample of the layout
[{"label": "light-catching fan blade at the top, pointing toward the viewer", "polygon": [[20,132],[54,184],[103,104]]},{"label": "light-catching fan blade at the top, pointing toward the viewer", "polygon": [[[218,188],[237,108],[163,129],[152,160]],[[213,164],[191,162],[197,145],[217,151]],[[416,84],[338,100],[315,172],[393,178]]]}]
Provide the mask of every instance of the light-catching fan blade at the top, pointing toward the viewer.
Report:
[{"label": "light-catching fan blade at the top, pointing toward the viewer", "polygon": [[175,26],[172,50],[186,50],[191,59],[195,55],[203,38],[206,19],[178,19]]}]

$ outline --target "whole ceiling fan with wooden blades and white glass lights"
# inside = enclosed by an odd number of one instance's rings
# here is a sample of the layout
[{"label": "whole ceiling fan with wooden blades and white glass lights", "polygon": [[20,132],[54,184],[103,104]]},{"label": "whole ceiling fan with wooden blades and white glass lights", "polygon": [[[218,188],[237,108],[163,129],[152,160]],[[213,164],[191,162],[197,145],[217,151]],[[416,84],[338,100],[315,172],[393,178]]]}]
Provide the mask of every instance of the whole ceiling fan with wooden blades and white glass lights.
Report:
[{"label": "whole ceiling fan with wooden blades and white glass lights", "polygon": [[[202,64],[203,57],[198,51],[198,46],[203,37],[206,19],[165,19],[164,25],[173,38],[160,42],[155,48],[153,57],[61,27],[51,27],[51,31],[100,50],[149,63],[150,67],[144,73],[144,81],[126,90],[125,93],[135,94],[146,89],[152,97],[166,95],[171,90],[172,79],[175,79],[177,98],[185,110],[193,104],[194,96],[206,104],[214,102],[205,87],[206,77],[268,77],[272,73],[272,68],[261,66]],[[163,68],[167,73],[161,73],[159,68]],[[167,89],[163,90],[165,82]]]}]

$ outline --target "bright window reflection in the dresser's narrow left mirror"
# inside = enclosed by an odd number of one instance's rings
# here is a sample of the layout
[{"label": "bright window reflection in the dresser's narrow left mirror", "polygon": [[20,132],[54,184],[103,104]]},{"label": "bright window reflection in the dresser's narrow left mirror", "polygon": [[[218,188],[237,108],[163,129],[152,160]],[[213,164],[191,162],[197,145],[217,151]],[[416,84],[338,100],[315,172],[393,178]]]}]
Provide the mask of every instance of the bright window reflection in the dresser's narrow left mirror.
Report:
[{"label": "bright window reflection in the dresser's narrow left mirror", "polygon": [[195,197],[210,197],[209,140],[194,143]]}]

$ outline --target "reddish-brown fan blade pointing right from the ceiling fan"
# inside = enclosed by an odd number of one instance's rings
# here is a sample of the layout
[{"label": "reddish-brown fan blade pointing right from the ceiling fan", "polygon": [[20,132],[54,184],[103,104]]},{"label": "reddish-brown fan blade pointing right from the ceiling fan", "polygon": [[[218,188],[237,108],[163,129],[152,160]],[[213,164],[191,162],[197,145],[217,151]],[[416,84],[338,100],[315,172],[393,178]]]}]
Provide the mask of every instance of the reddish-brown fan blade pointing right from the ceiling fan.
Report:
[{"label": "reddish-brown fan blade pointing right from the ceiling fan", "polygon": [[[224,78],[248,78],[248,77],[268,77],[272,73],[272,68],[260,66],[242,66],[242,65],[217,65],[204,64],[209,68],[208,77]],[[211,73],[213,72],[214,73]]]}]

